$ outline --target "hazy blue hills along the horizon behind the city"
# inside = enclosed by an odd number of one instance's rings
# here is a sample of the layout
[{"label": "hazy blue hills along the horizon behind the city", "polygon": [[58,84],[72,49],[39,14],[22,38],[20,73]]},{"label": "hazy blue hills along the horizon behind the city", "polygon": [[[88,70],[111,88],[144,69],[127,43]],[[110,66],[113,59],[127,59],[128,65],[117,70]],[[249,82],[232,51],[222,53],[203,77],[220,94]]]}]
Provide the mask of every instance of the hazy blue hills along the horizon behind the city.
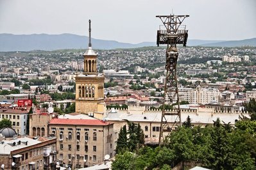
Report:
[{"label": "hazy blue hills along the horizon behind the city", "polygon": [[[240,42],[240,43],[239,43]],[[249,43],[250,42],[250,43]],[[231,45],[230,45],[231,44]],[[256,46],[256,38],[240,41],[221,40],[188,40],[187,46]],[[55,50],[55,49],[85,49],[88,46],[88,37],[64,33],[60,35],[31,34],[13,35],[0,34],[0,51],[31,51],[31,50]],[[156,42],[141,42],[130,44],[115,40],[100,40],[92,38],[94,49],[135,48],[145,46],[157,46]]]}]

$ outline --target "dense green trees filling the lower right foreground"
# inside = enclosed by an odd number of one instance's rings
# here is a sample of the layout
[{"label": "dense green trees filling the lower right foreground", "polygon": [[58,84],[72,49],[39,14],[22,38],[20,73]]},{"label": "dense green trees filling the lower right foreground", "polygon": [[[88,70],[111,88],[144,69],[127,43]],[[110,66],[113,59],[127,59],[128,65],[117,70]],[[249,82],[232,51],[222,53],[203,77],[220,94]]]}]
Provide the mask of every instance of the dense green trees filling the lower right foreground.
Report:
[{"label": "dense green trees filling the lower right foreground", "polygon": [[[188,119],[187,119],[188,121]],[[214,126],[182,126],[164,147],[142,147],[117,154],[112,169],[171,169],[179,162],[198,162],[209,169],[256,169],[256,121],[231,127],[217,119]]]}]

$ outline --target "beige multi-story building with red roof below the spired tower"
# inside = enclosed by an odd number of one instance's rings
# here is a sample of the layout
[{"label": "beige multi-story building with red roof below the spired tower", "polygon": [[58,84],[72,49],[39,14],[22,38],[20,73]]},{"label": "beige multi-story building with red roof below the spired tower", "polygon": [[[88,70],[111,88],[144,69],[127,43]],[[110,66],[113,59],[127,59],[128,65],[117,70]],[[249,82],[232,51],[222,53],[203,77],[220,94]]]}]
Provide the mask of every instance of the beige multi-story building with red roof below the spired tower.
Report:
[{"label": "beige multi-story building with red roof below the spired tower", "polygon": [[49,135],[57,139],[60,166],[89,167],[114,156],[114,124],[98,119],[52,119]]}]

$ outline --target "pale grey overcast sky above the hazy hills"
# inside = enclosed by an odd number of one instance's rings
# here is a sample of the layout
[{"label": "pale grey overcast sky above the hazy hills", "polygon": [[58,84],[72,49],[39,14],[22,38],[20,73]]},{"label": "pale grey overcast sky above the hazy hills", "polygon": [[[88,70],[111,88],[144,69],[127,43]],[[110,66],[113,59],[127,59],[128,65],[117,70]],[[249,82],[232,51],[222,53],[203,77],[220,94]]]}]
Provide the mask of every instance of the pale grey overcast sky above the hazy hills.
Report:
[{"label": "pale grey overcast sky above the hazy hills", "polygon": [[156,15],[190,15],[189,39],[256,37],[255,0],[0,0],[0,33],[74,33],[103,40],[155,42]]}]

